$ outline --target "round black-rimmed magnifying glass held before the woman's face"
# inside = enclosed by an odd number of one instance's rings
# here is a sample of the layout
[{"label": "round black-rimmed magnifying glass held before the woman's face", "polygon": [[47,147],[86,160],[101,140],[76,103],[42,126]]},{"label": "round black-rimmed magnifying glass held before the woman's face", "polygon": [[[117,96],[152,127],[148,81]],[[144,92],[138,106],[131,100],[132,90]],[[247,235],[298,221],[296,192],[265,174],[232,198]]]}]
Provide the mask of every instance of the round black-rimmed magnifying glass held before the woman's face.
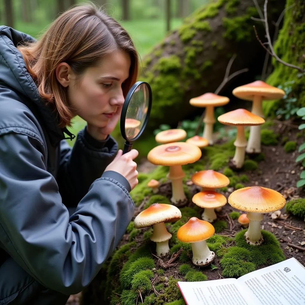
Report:
[{"label": "round black-rimmed magnifying glass held before the woman's face", "polygon": [[144,81],[136,82],[128,91],[121,113],[120,128],[126,140],[123,154],[129,152],[132,142],[139,138],[149,119],[152,90]]}]

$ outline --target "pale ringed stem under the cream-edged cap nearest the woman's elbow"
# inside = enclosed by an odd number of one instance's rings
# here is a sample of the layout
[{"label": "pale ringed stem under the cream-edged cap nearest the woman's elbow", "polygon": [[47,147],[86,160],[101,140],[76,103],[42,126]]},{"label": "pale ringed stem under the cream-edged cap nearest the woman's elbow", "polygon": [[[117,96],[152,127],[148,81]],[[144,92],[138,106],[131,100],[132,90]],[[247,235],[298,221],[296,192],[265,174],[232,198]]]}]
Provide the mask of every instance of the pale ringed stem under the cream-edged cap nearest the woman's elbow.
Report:
[{"label": "pale ringed stem under the cream-edged cap nearest the woman's elbow", "polygon": [[172,235],[167,231],[164,222],[154,224],[152,227],[153,233],[150,240],[156,242],[156,254],[158,257],[162,257],[170,251],[168,240],[172,237]]}]

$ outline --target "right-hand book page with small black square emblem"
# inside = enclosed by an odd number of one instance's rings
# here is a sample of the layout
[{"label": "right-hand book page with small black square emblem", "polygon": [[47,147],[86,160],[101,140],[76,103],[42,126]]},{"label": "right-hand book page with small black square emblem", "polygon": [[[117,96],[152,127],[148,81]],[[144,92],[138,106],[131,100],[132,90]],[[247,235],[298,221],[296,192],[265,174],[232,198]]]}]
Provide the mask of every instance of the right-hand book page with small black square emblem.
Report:
[{"label": "right-hand book page with small black square emblem", "polygon": [[289,258],[237,279],[239,287],[250,289],[255,304],[305,305],[305,268]]}]

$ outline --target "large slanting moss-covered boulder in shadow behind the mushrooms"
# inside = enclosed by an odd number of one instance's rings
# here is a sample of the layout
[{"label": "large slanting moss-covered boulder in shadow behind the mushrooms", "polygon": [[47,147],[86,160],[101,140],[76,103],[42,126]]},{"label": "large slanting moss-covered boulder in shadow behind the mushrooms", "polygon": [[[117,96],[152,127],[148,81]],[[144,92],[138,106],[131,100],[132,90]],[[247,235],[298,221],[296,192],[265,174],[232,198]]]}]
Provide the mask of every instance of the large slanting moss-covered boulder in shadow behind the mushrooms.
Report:
[{"label": "large slanting moss-covered boulder in shadow behind the mushrooms", "polygon": [[[258,3],[262,7],[264,1]],[[271,22],[278,20],[285,1],[272,1],[269,6],[272,35],[274,26]],[[153,94],[145,133],[160,124],[177,127],[179,121],[200,115],[203,109],[191,106],[189,100],[216,90],[233,54],[236,59],[231,73],[244,68],[249,72],[233,78],[220,94],[233,100],[228,108],[236,108],[237,99],[231,94],[232,90],[254,81],[261,74],[265,56],[253,30],[255,25],[259,37],[264,39],[263,24],[251,17],[259,17],[252,0],[214,1],[187,17],[178,30],[145,56],[141,80],[151,85]]]}]

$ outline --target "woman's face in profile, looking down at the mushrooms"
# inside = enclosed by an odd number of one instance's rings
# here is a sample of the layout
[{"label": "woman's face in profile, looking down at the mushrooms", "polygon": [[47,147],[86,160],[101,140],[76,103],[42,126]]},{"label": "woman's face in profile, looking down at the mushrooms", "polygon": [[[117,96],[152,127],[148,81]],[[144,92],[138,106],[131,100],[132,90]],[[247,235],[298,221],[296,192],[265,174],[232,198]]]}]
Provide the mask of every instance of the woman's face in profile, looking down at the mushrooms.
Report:
[{"label": "woman's face in profile, looking down at the mushrooms", "polygon": [[86,69],[81,79],[70,80],[68,101],[74,115],[93,126],[105,127],[120,114],[124,103],[122,84],[129,77],[130,65],[128,53],[116,51]]}]

